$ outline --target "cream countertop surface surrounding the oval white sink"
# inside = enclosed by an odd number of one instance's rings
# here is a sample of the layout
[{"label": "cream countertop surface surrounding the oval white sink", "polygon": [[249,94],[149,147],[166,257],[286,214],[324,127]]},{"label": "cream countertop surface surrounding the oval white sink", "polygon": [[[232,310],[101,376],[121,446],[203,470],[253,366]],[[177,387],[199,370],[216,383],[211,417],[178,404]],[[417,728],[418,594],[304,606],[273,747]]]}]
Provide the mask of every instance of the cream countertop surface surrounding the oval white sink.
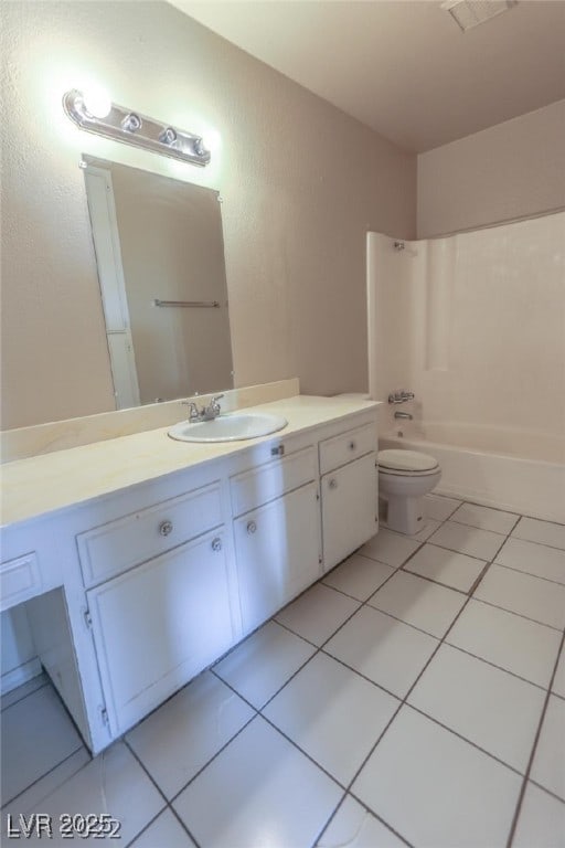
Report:
[{"label": "cream countertop surface surrounding the oval white sink", "polygon": [[361,396],[296,395],[245,410],[271,412],[287,418],[288,425],[284,430],[260,438],[178,442],[167,435],[170,428],[167,426],[7,463],[0,471],[2,524],[36,518],[377,406]]}]

